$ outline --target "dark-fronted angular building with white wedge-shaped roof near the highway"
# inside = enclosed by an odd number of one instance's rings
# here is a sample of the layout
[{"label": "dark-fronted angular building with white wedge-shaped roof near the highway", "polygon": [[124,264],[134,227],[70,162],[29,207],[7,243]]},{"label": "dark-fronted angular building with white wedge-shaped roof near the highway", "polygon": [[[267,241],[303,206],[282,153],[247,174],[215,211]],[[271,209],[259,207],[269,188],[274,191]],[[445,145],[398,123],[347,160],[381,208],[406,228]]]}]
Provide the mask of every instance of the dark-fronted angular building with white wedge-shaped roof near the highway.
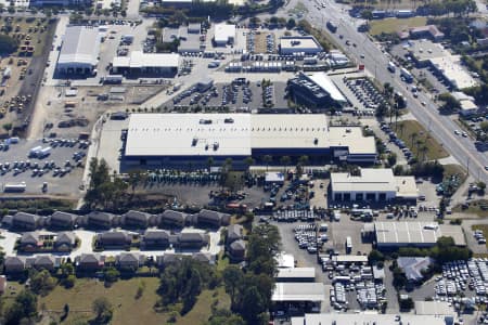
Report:
[{"label": "dark-fronted angular building with white wedge-shaped roof near the highway", "polygon": [[299,73],[288,80],[288,91],[295,103],[314,109],[330,109],[347,104],[347,99],[325,73]]}]

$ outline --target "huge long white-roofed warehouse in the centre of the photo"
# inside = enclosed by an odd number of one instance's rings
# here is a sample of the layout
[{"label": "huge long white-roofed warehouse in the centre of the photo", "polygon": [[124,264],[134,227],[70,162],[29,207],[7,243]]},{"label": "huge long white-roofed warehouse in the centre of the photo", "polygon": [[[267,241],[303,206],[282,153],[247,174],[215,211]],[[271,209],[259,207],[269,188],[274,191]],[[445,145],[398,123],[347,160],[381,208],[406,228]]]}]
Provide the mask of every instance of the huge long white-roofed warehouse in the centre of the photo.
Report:
[{"label": "huge long white-roofed warehouse in the centre of the photo", "polygon": [[216,165],[246,157],[331,157],[371,164],[373,136],[361,128],[329,127],[325,115],[132,114],[125,157],[141,165]]}]

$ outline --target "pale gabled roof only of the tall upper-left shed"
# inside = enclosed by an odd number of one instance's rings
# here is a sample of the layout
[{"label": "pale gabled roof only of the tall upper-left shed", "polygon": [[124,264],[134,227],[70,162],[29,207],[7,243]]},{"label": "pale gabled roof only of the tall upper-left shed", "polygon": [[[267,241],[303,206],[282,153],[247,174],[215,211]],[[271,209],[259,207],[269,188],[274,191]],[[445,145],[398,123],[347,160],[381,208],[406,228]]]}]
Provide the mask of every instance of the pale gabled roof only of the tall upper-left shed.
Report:
[{"label": "pale gabled roof only of the tall upper-left shed", "polygon": [[68,26],[63,37],[57,64],[97,65],[100,50],[99,29],[88,26]]}]

